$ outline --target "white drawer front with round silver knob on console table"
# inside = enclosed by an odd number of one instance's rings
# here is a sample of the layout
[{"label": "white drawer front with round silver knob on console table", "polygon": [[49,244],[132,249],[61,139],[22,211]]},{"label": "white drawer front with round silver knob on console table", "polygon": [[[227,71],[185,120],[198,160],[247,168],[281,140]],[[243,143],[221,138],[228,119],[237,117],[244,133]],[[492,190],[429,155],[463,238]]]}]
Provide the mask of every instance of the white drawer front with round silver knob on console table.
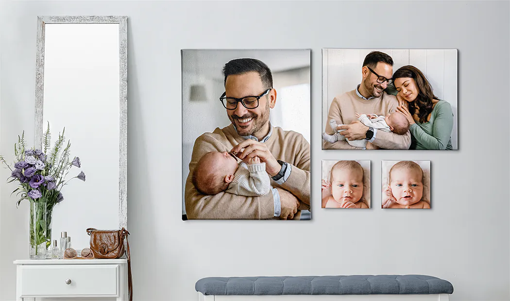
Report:
[{"label": "white drawer front with round silver knob on console table", "polygon": [[118,264],[24,265],[20,269],[21,297],[118,296]]}]

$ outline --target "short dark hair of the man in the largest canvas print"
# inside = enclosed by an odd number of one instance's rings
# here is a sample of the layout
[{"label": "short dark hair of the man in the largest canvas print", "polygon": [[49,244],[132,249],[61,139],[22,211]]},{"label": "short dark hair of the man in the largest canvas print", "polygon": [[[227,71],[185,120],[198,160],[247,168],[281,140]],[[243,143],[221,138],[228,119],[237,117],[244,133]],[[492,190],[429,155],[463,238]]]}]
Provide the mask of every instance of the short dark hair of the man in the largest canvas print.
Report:
[{"label": "short dark hair of the man in the largest canvas print", "polygon": [[225,76],[223,84],[226,84],[226,78],[230,75],[253,71],[259,73],[260,80],[262,81],[264,88],[273,88],[273,76],[271,74],[271,70],[266,64],[257,59],[235,59],[226,63],[225,66],[223,66],[223,75]]}]

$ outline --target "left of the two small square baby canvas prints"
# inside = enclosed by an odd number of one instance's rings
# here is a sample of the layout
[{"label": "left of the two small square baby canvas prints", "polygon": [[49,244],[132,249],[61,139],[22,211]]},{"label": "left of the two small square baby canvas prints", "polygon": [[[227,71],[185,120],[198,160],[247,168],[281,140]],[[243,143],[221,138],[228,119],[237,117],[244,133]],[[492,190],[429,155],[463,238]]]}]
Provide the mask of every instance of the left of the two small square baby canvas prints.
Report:
[{"label": "left of the two small square baby canvas prints", "polygon": [[370,160],[322,160],[322,208],[370,208]]}]

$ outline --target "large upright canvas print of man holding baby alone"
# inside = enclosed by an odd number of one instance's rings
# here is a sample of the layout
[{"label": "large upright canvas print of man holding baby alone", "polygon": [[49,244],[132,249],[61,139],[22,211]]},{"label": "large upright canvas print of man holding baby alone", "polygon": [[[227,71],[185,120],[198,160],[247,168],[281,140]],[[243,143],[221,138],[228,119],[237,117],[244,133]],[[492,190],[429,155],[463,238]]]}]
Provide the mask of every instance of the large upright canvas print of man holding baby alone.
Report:
[{"label": "large upright canvas print of man holding baby alone", "polygon": [[310,219],[310,50],[183,50],[183,219]]}]

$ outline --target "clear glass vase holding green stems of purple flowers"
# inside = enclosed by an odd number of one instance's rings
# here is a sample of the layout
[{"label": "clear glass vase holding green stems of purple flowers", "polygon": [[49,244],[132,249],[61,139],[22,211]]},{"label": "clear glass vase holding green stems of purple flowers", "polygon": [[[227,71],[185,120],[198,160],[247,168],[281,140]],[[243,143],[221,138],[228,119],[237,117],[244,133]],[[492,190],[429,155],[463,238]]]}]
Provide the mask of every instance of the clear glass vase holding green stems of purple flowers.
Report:
[{"label": "clear glass vase holding green stems of purple flowers", "polygon": [[46,259],[46,203],[30,202],[30,259]]}]

